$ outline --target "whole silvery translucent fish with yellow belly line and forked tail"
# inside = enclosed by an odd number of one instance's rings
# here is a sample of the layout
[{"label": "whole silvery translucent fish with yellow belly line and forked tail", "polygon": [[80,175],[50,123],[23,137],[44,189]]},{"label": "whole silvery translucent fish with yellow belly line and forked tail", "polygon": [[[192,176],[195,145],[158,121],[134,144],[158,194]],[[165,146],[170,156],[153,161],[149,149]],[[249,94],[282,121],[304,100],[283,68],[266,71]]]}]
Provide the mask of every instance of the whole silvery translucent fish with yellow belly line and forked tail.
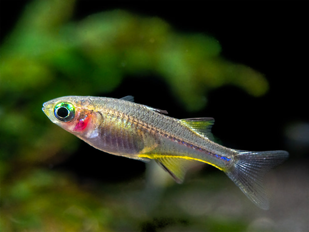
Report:
[{"label": "whole silvery translucent fish with yellow belly line and forked tail", "polygon": [[42,110],[53,123],[101,151],[155,160],[177,183],[195,165],[212,165],[262,209],[269,209],[263,177],[289,156],[283,150],[227,148],[214,142],[214,118],[172,118],[166,110],[135,103],[132,96],[59,97],[45,102]]}]

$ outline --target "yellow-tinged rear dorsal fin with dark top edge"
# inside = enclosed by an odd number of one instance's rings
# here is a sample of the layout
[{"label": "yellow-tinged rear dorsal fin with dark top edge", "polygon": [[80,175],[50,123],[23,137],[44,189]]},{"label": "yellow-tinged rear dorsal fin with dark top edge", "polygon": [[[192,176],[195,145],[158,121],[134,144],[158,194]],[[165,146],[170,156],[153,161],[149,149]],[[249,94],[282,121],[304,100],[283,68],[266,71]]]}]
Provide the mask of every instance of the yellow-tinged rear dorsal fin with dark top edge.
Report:
[{"label": "yellow-tinged rear dorsal fin with dark top edge", "polygon": [[180,119],[180,122],[197,134],[209,140],[214,140],[214,136],[211,133],[211,127],[214,125],[214,118],[185,118]]}]

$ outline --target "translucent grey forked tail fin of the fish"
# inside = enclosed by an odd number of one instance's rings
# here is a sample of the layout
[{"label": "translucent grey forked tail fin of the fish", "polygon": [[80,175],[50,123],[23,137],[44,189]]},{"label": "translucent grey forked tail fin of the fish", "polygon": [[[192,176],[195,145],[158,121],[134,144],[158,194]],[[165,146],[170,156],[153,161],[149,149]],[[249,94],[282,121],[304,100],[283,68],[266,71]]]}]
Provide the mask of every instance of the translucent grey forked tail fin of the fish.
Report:
[{"label": "translucent grey forked tail fin of the fish", "polygon": [[234,157],[234,162],[226,175],[243,193],[262,209],[269,208],[263,176],[274,166],[282,163],[289,156],[286,151],[249,152],[241,151]]}]

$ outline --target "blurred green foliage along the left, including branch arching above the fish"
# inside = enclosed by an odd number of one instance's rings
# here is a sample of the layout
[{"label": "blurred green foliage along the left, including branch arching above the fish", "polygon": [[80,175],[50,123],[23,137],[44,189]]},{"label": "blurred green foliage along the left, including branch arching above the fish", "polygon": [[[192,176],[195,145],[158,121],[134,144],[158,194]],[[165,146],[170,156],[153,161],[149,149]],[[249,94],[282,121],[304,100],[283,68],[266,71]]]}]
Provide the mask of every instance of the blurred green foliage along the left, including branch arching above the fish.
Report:
[{"label": "blurred green foliage along the left, including branch arching above the fish", "polygon": [[[162,19],[122,10],[73,21],[74,4],[62,0],[30,2],[1,47],[2,231],[117,228],[105,221],[91,222],[97,226],[87,227],[85,217],[105,220],[112,217],[111,211],[95,194],[78,193],[70,176],[63,174],[60,178],[59,174],[37,170],[42,164],[61,162],[78,143],[74,136],[46,121],[38,110],[44,101],[108,93],[126,76],[149,72],[158,74],[190,111],[204,107],[207,93],[225,84],[238,86],[252,96],[268,90],[262,74],[220,57],[221,47],[212,37],[181,34]],[[60,179],[66,183],[55,189]],[[44,198],[51,191],[54,198]],[[53,212],[44,211],[52,207],[51,202],[69,199],[70,195],[80,202],[78,206],[67,204],[74,209],[68,206],[65,213],[57,207]],[[34,201],[41,206],[36,208]],[[89,216],[89,209],[80,208],[83,203],[100,207]],[[70,212],[77,213],[72,217],[79,223],[70,223],[70,216],[61,222],[61,217]],[[118,229],[124,228],[138,227],[123,225]]]}]

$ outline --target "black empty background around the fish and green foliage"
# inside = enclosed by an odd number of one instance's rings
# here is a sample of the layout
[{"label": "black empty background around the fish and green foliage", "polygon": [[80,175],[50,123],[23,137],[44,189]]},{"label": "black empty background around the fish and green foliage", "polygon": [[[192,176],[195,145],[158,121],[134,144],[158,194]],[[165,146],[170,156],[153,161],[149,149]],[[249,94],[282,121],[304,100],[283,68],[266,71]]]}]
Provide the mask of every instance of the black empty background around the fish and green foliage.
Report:
[{"label": "black empty background around the fish and green foliage", "polygon": [[[1,43],[27,3],[1,1]],[[133,95],[137,103],[167,110],[175,118],[214,117],[213,132],[223,145],[243,150],[285,149],[290,152],[290,161],[297,163],[308,161],[308,144],[299,143],[303,138],[291,140],[287,127],[308,123],[308,6],[308,1],[78,1],[73,20],[120,8],[158,16],[176,31],[215,37],[224,58],[265,74],[270,86],[265,96],[251,97],[239,88],[225,86],[210,92],[204,110],[190,113],[169,94],[163,82],[150,75],[138,84],[125,79],[107,97]],[[140,86],[147,85],[154,91],[140,91]],[[93,162],[98,157],[104,160]],[[128,176],[111,173],[111,164],[117,164],[117,169]],[[81,179],[115,181],[143,172],[144,164],[102,156],[81,142],[77,154],[53,168],[72,170]]]}]

